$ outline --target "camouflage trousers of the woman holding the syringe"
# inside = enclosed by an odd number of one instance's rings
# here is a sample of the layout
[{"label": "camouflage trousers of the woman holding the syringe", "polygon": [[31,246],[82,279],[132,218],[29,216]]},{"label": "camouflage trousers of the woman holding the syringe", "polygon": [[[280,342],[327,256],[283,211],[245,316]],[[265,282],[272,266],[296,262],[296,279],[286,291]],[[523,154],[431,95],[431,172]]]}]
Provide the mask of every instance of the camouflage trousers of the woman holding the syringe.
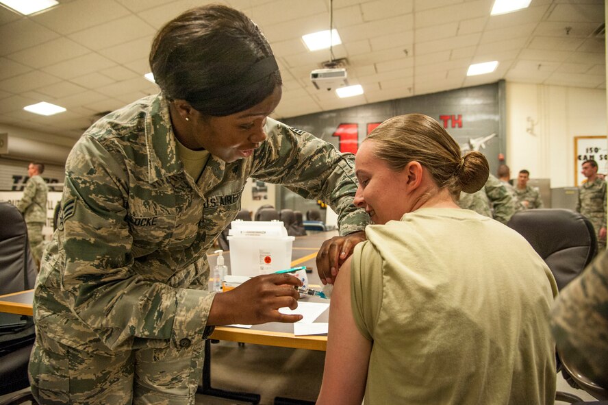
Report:
[{"label": "camouflage trousers of the woman holding the syringe", "polygon": [[29,382],[40,405],[193,405],[204,356],[203,339],[187,348],[102,355],[63,345],[42,332],[31,352]]}]

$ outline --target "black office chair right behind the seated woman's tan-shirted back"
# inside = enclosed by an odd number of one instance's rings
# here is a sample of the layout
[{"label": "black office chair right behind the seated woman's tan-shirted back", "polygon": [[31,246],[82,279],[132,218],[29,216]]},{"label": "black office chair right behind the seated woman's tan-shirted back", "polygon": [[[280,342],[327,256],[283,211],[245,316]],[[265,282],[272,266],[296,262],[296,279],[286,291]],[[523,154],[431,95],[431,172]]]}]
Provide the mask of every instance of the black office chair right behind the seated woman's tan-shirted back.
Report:
[{"label": "black office chair right behind the seated woman's tan-shirted back", "polygon": [[[514,214],[507,223],[532,245],[553,273],[557,288],[561,290],[592,262],[598,251],[598,243],[592,223],[583,215],[571,210],[535,209]],[[580,373],[571,375],[568,367],[557,358],[557,371],[574,388]],[[593,395],[592,392],[590,392]],[[581,398],[558,391],[555,400],[570,404],[583,402]]]}]

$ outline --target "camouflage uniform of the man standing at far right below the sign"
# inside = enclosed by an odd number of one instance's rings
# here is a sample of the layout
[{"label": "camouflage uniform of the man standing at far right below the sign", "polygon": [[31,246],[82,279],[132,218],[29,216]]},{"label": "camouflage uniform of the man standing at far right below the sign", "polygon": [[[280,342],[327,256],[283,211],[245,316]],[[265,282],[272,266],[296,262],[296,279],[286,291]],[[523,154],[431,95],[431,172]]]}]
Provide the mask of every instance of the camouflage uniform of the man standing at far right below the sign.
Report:
[{"label": "camouflage uniform of the man standing at far right below the sign", "polygon": [[606,249],[606,240],[600,241],[601,228],[606,228],[606,182],[596,178],[593,182],[586,182],[579,186],[579,201],[577,212],[587,217],[598,236],[598,247]]}]

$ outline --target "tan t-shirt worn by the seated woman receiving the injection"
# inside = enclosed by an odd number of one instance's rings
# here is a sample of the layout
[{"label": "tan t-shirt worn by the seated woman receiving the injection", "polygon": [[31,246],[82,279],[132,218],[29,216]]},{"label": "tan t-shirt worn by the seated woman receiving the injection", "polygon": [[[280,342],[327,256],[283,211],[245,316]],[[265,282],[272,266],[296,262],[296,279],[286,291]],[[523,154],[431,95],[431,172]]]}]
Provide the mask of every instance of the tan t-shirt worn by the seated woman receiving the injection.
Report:
[{"label": "tan t-shirt worn by the seated woman receiving the injection", "polygon": [[557,286],[522,236],[470,210],[369,225],[351,297],[373,341],[366,404],[553,404]]}]

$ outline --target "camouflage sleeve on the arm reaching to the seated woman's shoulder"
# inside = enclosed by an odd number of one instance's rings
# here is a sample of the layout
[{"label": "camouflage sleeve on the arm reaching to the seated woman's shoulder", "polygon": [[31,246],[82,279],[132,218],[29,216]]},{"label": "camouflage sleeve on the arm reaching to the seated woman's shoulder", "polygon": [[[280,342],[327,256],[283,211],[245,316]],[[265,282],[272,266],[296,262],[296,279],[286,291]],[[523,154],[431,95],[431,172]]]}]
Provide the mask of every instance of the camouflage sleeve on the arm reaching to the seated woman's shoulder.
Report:
[{"label": "camouflage sleeve on the arm reaching to the seated woman's shoulder", "polygon": [[325,201],[336,213],[340,234],[364,230],[369,216],[353,205],[355,156],[330,143],[268,119],[268,141],[256,151],[251,177],[282,184],[307,199]]}]

